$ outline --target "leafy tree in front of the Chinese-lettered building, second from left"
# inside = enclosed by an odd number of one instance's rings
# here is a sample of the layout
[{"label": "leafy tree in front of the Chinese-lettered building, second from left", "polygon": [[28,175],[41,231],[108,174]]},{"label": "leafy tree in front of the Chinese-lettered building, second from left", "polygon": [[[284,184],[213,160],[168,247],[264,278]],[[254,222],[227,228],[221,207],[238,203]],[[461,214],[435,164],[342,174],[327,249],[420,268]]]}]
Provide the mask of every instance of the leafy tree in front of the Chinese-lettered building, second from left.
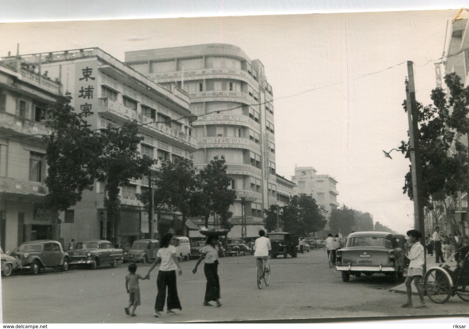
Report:
[{"label": "leafy tree in front of the Chinese-lettered building, second from left", "polygon": [[112,227],[120,208],[121,186],[129,184],[129,179],[141,179],[150,175],[150,167],[155,163],[147,155],[140,157],[138,144],[143,137],[137,134],[136,122],[124,123],[122,127],[109,125],[101,134],[104,148],[98,158],[98,179],[105,182],[105,208],[111,215]]}]

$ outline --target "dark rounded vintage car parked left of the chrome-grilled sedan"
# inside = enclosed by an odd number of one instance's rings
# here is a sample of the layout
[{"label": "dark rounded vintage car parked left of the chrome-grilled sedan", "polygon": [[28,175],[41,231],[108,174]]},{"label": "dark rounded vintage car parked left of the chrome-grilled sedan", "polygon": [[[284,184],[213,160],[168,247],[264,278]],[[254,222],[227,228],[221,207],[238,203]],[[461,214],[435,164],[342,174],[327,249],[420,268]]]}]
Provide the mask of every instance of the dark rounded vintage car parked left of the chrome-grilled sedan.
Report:
[{"label": "dark rounded vintage car parked left of the chrome-grilled sedan", "polygon": [[70,269],[70,256],[62,249],[60,242],[54,240],[24,242],[12,255],[20,263],[18,269],[29,270],[31,274],[38,274],[45,268]]}]

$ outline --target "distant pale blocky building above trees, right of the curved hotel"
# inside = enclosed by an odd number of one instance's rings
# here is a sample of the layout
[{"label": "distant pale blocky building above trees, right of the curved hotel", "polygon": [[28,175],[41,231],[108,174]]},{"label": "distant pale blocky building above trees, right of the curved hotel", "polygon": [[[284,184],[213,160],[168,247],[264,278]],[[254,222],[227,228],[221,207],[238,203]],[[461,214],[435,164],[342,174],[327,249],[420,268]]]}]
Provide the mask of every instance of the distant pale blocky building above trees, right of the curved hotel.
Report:
[{"label": "distant pale blocky building above trees, right of the curved hotel", "polygon": [[292,180],[296,184],[295,194],[312,195],[316,203],[325,209],[325,217],[329,219],[331,210],[339,206],[337,180],[330,175],[316,175],[313,167],[296,167]]}]

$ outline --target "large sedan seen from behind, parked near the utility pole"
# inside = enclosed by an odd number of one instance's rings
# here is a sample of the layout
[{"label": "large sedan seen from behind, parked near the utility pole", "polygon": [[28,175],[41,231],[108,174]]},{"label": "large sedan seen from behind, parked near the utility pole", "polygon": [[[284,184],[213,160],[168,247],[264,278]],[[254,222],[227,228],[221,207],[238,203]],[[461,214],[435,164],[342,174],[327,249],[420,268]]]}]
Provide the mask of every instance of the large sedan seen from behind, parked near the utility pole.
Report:
[{"label": "large sedan seen from behind, parked near the utility pole", "polygon": [[355,232],[347,238],[344,248],[337,251],[336,269],[342,272],[342,280],[350,276],[371,276],[383,273],[397,282],[403,277],[405,263],[403,235],[388,232]]}]

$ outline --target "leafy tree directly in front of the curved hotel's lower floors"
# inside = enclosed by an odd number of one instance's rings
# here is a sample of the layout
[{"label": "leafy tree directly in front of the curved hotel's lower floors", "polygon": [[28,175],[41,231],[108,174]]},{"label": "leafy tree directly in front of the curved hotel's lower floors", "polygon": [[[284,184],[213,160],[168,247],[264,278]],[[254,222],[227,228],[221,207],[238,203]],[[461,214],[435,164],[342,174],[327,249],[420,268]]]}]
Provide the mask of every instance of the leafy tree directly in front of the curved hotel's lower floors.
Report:
[{"label": "leafy tree directly in front of the curved hotel's lower floors", "polygon": [[198,196],[200,202],[197,203],[205,217],[205,227],[208,226],[209,217],[215,215],[220,217],[222,228],[231,229],[233,226],[228,222],[231,217],[229,208],[236,200],[236,192],[228,189],[230,179],[225,162],[223,156],[214,157],[199,173],[202,195]]}]

